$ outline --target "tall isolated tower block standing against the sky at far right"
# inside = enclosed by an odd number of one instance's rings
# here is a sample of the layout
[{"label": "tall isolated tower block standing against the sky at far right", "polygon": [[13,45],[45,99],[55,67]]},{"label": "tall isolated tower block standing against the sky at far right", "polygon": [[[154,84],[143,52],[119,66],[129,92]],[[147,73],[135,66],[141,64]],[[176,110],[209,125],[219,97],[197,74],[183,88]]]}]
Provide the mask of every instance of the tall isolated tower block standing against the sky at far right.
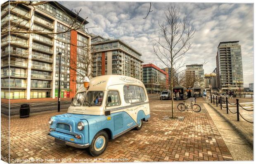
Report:
[{"label": "tall isolated tower block standing against the sky at far right", "polygon": [[244,90],[242,53],[239,41],[220,42],[216,55],[217,85],[220,90]]}]

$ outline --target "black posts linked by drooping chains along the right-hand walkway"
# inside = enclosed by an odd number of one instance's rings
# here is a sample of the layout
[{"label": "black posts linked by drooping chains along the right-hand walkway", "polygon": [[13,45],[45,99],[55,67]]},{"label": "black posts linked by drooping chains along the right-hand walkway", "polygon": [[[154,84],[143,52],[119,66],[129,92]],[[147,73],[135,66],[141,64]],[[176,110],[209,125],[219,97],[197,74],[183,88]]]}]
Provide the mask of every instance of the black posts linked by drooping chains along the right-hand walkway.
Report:
[{"label": "black posts linked by drooping chains along the right-hand walkway", "polygon": [[[241,104],[239,104],[239,99],[236,99],[236,103],[235,103],[235,104],[232,104],[232,103],[228,102],[228,97],[223,97],[223,96],[219,96],[219,97],[218,97],[218,96],[214,96],[214,95],[213,95],[213,96],[212,96],[212,99],[213,99],[213,105],[216,104],[216,107],[218,107],[218,104],[220,104],[220,109],[221,109],[221,110],[222,110],[222,109],[226,109],[226,110],[227,110],[227,114],[228,114],[229,112],[232,113],[232,114],[237,114],[237,121],[240,121],[240,117],[241,117],[241,118],[243,118],[245,121],[250,122],[250,123],[253,123],[253,121],[249,121],[249,120],[245,119],[245,118],[241,115],[241,112],[239,111],[239,109],[241,108],[241,109],[243,109],[243,110],[245,110],[245,111],[254,111],[254,109],[251,109],[251,110],[245,109],[243,106],[241,106]],[[223,102],[224,102],[225,104],[223,104]],[[223,105],[225,105],[225,106],[223,106]],[[236,112],[231,111],[228,105],[230,105],[230,106],[236,106],[237,111],[236,111]]]}]

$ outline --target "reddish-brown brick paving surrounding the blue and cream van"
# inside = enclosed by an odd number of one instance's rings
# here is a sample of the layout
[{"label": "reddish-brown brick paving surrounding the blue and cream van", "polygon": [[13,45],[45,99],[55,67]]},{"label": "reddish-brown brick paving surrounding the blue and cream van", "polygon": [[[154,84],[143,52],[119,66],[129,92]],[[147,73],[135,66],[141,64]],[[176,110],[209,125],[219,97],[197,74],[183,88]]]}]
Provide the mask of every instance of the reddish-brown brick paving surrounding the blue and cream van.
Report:
[{"label": "reddish-brown brick paving surrounding the blue and cream van", "polygon": [[[199,113],[180,112],[175,102],[175,116],[180,120],[164,120],[171,115],[171,101],[150,101],[151,118],[143,122],[139,131],[131,130],[109,141],[106,151],[97,158],[83,149],[62,146],[46,137],[48,119],[60,113],[31,115],[29,118],[11,118],[10,162],[124,162],[136,161],[223,161],[233,160],[203,101]],[[64,113],[62,111],[61,113]],[[2,129],[8,129],[7,118],[1,117]],[[2,150],[6,150],[7,131],[2,131]],[[5,141],[5,142],[4,142]],[[5,151],[3,151],[5,152]],[[20,161],[23,160],[23,161]]]}]

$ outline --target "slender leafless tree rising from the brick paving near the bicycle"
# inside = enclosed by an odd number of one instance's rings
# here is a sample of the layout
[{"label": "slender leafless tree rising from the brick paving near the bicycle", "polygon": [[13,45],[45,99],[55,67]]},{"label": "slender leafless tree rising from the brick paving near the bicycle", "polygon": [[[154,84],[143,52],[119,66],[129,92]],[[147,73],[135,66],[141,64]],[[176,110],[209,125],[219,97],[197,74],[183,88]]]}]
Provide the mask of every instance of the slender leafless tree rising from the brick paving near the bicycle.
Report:
[{"label": "slender leafless tree rising from the brick paving near the bicycle", "polygon": [[[186,16],[182,18],[179,9],[173,5],[166,10],[165,21],[159,23],[159,27],[159,39],[153,45],[154,54],[166,67],[173,69],[175,66],[180,65],[179,61],[191,48],[192,44],[190,41],[194,36],[195,30],[190,20]],[[172,71],[171,90],[173,90]],[[173,94],[171,109],[171,118],[174,119]]]}]

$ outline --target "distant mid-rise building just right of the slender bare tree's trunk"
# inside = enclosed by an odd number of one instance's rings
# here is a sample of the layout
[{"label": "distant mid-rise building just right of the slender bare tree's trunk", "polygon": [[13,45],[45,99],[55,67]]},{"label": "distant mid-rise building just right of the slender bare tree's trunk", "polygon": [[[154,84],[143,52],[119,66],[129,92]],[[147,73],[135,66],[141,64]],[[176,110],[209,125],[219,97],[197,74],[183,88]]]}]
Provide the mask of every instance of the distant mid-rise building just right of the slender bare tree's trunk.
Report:
[{"label": "distant mid-rise building just right of the slender bare tree's trunk", "polygon": [[203,65],[192,64],[186,65],[185,70],[186,81],[192,82],[190,85],[193,86],[194,82],[199,82],[201,88],[204,88],[204,69]]}]

